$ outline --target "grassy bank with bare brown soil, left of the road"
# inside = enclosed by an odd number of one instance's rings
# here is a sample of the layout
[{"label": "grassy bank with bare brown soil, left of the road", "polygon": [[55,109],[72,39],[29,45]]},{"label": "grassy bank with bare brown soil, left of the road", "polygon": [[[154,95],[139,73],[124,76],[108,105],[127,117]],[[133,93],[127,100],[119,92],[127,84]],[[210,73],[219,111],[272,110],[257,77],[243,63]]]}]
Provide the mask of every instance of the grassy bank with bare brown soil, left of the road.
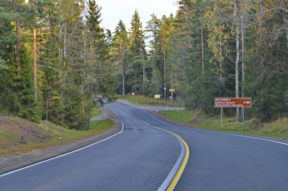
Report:
[{"label": "grassy bank with bare brown soil, left of the road", "polygon": [[[100,110],[93,110],[92,112],[93,116],[101,115]],[[91,130],[78,131],[57,126],[47,121],[35,124],[24,119],[1,120],[0,154],[44,149],[81,138],[88,138],[108,130],[114,124],[114,121],[110,119],[91,121]],[[22,136],[24,139],[21,138]]]}]

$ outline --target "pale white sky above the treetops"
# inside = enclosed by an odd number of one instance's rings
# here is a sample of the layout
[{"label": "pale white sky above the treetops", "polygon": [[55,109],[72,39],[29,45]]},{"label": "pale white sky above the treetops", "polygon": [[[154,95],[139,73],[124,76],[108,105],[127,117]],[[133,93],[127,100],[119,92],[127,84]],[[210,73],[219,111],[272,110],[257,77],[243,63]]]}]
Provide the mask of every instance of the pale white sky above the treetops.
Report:
[{"label": "pale white sky above the treetops", "polygon": [[146,22],[151,19],[150,14],[154,13],[158,19],[161,19],[165,14],[167,17],[172,13],[176,15],[177,5],[176,0],[95,0],[102,7],[101,27],[110,29],[113,33],[115,27],[119,23],[119,19],[123,21],[126,30],[130,29],[132,16],[137,9],[140,21],[143,28],[146,27]]}]

